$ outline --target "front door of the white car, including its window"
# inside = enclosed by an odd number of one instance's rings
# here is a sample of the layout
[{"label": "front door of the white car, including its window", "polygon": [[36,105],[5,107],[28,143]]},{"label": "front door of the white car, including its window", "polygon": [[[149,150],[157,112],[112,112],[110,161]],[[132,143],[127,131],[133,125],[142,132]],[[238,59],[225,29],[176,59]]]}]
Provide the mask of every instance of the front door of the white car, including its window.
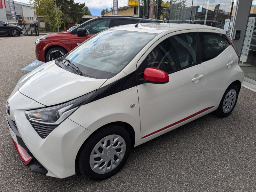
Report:
[{"label": "front door of the white car, including its window", "polygon": [[143,78],[147,67],[165,71],[170,79],[166,84],[137,85],[141,137],[146,140],[170,131],[174,125],[197,115],[204,67],[196,55],[199,49],[196,47],[196,31],[179,31],[175,32],[175,36],[172,33],[167,38],[162,37],[154,48],[144,54],[146,58],[137,69],[137,79]]}]

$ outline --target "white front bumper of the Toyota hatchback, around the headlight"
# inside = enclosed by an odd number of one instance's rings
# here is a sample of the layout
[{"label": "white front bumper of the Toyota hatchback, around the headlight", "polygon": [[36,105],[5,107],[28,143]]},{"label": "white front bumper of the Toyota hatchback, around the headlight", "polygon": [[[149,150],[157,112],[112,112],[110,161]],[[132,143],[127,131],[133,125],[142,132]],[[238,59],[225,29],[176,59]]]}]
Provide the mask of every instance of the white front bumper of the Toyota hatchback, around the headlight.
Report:
[{"label": "white front bumper of the Toyota hatchback, around the headlight", "polygon": [[31,170],[57,178],[74,175],[76,155],[92,132],[67,118],[42,139],[29,123],[24,112],[44,106],[21,94],[18,88],[14,89],[7,101],[10,104],[10,116],[7,115],[7,120],[11,127],[13,121],[16,123],[17,130],[13,128],[13,132],[19,135],[17,136],[19,146],[16,143],[16,148],[21,147],[19,150],[26,152],[28,158],[32,157],[27,162],[27,166],[30,168],[32,165],[39,166],[41,171],[33,167]]}]

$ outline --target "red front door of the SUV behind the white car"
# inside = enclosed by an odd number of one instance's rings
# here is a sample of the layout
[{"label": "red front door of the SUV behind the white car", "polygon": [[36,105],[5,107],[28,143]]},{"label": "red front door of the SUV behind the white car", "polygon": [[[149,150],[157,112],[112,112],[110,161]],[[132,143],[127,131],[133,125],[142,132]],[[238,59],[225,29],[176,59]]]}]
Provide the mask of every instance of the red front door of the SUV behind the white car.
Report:
[{"label": "red front door of the SUV behind the white car", "polygon": [[71,34],[71,47],[74,49],[79,44],[83,43],[85,40],[94,36],[95,34],[111,27],[112,19],[98,19],[93,20],[89,23],[84,24],[80,28],[86,29],[86,32],[80,36],[77,35],[77,32],[72,32]]}]

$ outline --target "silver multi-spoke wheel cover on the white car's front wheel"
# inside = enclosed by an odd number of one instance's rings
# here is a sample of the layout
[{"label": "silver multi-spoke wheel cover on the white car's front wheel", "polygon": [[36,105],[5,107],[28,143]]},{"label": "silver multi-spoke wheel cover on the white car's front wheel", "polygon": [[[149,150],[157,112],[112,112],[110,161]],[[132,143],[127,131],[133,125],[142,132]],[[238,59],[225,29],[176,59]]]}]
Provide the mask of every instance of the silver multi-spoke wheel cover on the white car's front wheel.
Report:
[{"label": "silver multi-spoke wheel cover on the white car's front wheel", "polygon": [[104,174],[115,169],[124,158],[126,145],[119,135],[102,138],[92,149],[90,166],[93,172]]}]

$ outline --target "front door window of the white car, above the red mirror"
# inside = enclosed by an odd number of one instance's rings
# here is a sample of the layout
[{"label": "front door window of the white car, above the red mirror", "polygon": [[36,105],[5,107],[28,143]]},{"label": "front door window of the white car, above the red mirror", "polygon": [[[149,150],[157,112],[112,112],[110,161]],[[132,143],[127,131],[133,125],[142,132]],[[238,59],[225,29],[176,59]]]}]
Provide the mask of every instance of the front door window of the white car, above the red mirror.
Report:
[{"label": "front door window of the white car, above the red mirror", "polygon": [[195,63],[196,40],[194,33],[172,36],[164,40],[143,61],[146,67],[155,67],[166,73],[187,68]]}]

